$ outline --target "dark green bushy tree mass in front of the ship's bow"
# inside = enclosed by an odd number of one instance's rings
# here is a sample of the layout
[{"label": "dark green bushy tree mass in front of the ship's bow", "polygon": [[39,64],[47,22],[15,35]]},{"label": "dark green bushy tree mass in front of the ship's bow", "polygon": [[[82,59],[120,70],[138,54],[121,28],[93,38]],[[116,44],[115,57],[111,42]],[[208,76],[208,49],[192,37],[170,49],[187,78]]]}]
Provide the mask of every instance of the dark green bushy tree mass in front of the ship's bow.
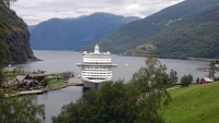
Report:
[{"label": "dark green bushy tree mass in front of the ship's bow", "polygon": [[[54,123],[132,123],[135,103],[130,101],[128,86],[123,81],[107,82],[99,90],[89,90],[66,104]],[[131,116],[132,115],[132,116]]]}]

